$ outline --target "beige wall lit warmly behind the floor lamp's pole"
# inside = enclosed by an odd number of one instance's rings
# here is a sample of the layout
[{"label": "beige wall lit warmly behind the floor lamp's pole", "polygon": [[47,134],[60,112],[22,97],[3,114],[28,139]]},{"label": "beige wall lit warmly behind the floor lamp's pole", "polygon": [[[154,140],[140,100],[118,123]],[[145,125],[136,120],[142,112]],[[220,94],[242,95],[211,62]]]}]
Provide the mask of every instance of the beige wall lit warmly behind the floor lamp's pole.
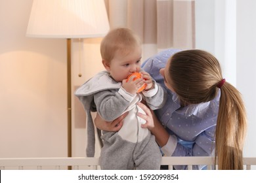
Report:
[{"label": "beige wall lit warmly behind the floor lamp's pole", "polygon": [[[31,7],[0,1],[0,158],[67,156],[66,40],[26,37]],[[102,69],[99,42],[73,40],[72,93]],[[73,155],[85,156],[85,116],[72,97]]]}]

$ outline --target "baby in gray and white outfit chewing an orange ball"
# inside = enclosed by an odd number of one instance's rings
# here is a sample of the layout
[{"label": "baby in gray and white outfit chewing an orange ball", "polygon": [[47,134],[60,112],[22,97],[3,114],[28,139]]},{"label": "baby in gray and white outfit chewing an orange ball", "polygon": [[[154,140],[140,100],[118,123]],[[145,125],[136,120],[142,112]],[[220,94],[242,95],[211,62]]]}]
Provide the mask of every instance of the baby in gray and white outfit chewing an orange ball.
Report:
[{"label": "baby in gray and white outfit chewing an orange ball", "polygon": [[[142,99],[152,110],[163,107],[167,94],[152,77],[140,69],[142,54],[139,37],[127,28],[110,31],[100,44],[102,71],[80,86],[75,95],[87,111],[97,111],[102,119],[112,122],[129,112],[118,132],[102,131],[101,169],[160,169],[161,152],[154,135],[141,125],[145,120],[137,116],[144,111],[137,105]],[[141,78],[127,77],[140,73]],[[146,86],[144,90],[138,90]],[[91,128],[88,124],[88,128]],[[94,126],[88,129],[94,136]],[[89,136],[88,136],[89,138]],[[94,137],[93,137],[94,138]],[[94,156],[94,144],[88,142],[87,156]]]}]

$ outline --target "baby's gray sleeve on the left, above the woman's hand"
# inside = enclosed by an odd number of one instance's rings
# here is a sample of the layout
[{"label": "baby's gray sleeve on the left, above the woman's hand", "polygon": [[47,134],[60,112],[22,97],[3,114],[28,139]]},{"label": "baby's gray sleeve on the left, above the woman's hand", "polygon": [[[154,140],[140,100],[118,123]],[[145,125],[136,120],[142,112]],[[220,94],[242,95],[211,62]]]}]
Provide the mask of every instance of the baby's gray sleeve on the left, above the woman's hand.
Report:
[{"label": "baby's gray sleeve on the left, above the woman's hand", "polygon": [[112,122],[121,116],[130,103],[117,90],[98,92],[94,100],[98,114],[107,122]]}]

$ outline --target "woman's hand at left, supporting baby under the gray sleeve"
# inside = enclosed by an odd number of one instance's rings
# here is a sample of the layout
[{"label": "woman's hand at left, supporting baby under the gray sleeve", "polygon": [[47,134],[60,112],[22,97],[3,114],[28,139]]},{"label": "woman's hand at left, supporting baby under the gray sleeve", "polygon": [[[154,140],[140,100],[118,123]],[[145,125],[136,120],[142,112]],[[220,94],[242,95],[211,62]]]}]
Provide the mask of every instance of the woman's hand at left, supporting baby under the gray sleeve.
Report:
[{"label": "woman's hand at left, supporting baby under the gray sleeve", "polygon": [[106,122],[100,117],[100,115],[97,112],[95,117],[95,126],[98,129],[101,129],[104,131],[113,131],[113,132],[119,131],[119,129],[121,129],[123,125],[123,119],[127,116],[127,114],[128,112],[125,112],[124,114],[116,118],[116,120],[114,120],[113,122]]}]

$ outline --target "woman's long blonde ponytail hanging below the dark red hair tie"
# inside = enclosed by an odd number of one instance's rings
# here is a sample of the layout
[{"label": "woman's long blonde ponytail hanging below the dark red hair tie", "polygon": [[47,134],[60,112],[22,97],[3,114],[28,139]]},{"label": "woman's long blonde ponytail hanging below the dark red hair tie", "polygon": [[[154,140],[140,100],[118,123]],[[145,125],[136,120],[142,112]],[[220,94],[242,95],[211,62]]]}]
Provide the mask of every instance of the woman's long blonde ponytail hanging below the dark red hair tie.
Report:
[{"label": "woman's long blonde ponytail hanging below the dark red hair tie", "polygon": [[246,114],[240,92],[223,82],[215,132],[215,161],[218,169],[243,169]]}]

